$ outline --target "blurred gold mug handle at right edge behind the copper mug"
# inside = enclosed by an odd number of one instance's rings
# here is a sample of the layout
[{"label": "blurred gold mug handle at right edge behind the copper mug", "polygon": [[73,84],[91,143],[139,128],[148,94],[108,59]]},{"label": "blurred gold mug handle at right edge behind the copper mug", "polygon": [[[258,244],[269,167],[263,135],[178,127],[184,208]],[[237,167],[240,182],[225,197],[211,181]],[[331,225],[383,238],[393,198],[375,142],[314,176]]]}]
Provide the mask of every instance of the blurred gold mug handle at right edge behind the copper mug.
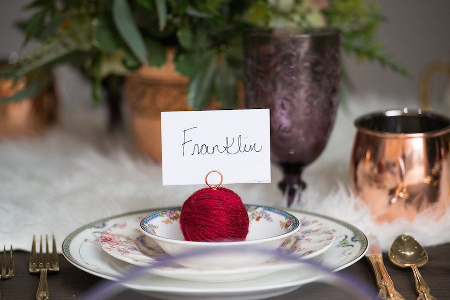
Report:
[{"label": "blurred gold mug handle at right edge behind the copper mug", "polygon": [[428,64],[423,70],[419,81],[420,106],[424,110],[432,110],[429,101],[429,89],[432,77],[436,73],[446,73],[450,77],[450,63],[439,60]]}]

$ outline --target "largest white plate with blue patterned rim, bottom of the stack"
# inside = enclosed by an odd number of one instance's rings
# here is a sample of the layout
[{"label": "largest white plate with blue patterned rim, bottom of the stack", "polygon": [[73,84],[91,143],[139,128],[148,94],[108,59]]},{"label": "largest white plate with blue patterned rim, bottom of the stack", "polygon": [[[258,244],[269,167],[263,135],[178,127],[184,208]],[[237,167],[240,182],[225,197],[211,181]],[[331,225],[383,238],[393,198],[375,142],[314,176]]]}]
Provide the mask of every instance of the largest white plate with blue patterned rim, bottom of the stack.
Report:
[{"label": "largest white plate with blue patterned rim, bottom of the stack", "polygon": [[[134,266],[118,260],[100,246],[100,236],[107,228],[126,220],[148,215],[160,209],[127,213],[86,224],[69,234],[63,244],[64,257],[75,267],[109,280],[118,280]],[[332,246],[315,259],[332,271],[342,270],[361,259],[367,251],[367,238],[352,225],[318,214],[289,210],[298,219],[311,217],[334,233]],[[309,260],[310,261],[310,260]],[[138,293],[165,300],[239,300],[262,299],[289,293],[320,276],[318,270],[281,270],[269,275],[238,282],[206,283],[177,280],[146,273],[128,281],[125,286]]]}]

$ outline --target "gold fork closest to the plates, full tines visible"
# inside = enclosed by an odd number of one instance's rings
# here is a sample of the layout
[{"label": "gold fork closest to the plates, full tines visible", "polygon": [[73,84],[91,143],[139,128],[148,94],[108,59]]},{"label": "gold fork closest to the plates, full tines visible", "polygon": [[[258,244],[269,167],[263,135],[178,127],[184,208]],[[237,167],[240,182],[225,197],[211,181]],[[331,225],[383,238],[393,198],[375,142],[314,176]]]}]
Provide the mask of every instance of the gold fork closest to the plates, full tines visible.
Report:
[{"label": "gold fork closest to the plates, full tines visible", "polygon": [[48,272],[58,272],[59,271],[59,261],[58,254],[56,252],[56,242],[53,235],[53,250],[51,253],[48,251],[48,237],[45,235],[45,259],[42,253],[42,236],[40,236],[40,250],[39,250],[39,260],[37,260],[36,255],[36,236],[33,235],[33,244],[31,246],[31,255],[29,257],[29,273],[36,274],[40,273],[39,286],[37,287],[36,300],[48,300],[50,298],[50,293],[48,292],[47,283],[47,271]]}]

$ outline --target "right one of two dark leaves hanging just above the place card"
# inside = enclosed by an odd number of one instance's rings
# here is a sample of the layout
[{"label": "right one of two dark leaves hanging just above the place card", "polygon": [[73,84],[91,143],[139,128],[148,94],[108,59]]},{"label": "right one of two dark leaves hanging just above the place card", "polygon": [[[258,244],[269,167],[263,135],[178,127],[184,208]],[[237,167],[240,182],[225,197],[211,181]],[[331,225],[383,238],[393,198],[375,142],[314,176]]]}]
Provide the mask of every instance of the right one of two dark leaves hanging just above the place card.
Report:
[{"label": "right one of two dark leaves hanging just above the place card", "polygon": [[236,78],[225,57],[222,57],[220,66],[214,77],[214,93],[222,108],[232,109],[236,107]]}]

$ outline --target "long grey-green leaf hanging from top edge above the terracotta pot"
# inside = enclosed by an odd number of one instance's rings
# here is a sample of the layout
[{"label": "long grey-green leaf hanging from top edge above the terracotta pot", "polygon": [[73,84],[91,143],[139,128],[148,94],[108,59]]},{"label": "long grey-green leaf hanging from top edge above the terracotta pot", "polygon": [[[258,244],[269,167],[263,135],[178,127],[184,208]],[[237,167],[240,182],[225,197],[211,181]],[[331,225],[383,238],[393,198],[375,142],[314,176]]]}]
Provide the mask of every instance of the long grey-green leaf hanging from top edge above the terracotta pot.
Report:
[{"label": "long grey-green leaf hanging from top edge above the terracotta pot", "polygon": [[114,0],[112,3],[112,18],[120,36],[133,54],[142,63],[146,63],[147,50],[126,0]]}]

